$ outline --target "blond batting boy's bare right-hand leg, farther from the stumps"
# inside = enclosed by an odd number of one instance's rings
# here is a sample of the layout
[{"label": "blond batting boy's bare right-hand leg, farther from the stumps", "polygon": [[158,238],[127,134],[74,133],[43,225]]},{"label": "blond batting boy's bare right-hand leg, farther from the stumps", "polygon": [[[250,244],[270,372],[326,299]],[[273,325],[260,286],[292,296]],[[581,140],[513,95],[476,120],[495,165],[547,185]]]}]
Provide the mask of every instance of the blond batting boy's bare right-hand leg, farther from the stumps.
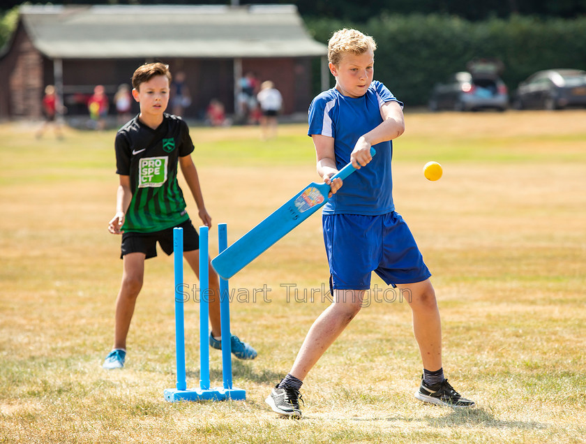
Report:
[{"label": "blond batting boy's bare right-hand leg, farther from the stumps", "polygon": [[[436,371],[442,368],[442,323],[437,309],[431,281],[400,284],[413,313],[413,331],[419,344],[423,368]],[[407,290],[407,291],[405,291]]]}]

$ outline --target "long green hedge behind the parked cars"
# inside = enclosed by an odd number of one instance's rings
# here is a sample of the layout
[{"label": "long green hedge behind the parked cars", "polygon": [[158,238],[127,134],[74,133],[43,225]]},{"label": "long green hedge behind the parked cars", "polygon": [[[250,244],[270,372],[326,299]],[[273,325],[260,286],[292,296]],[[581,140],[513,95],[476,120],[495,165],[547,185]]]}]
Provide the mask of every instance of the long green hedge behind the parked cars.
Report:
[{"label": "long green hedge behind the parked cars", "polygon": [[586,69],[586,17],[468,22],[444,15],[391,15],[366,24],[323,19],[306,24],[323,43],[343,27],[373,36],[378,45],[375,78],[411,106],[425,105],[436,82],[465,71],[467,61],[476,57],[502,60],[502,78],[511,91],[541,69]]}]

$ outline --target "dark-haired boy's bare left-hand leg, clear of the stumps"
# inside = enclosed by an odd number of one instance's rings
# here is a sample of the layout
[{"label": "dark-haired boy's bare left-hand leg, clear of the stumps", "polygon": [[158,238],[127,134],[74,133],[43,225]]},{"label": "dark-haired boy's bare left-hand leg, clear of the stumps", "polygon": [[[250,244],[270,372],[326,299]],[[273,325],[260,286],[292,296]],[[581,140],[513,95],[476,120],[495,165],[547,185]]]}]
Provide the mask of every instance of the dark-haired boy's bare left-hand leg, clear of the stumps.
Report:
[{"label": "dark-haired boy's bare left-hand leg, clear of the stumps", "polygon": [[123,256],[123,272],[120,291],[116,299],[114,348],[126,349],[126,336],[133,318],[136,299],[144,277],[144,253],[128,253]]}]

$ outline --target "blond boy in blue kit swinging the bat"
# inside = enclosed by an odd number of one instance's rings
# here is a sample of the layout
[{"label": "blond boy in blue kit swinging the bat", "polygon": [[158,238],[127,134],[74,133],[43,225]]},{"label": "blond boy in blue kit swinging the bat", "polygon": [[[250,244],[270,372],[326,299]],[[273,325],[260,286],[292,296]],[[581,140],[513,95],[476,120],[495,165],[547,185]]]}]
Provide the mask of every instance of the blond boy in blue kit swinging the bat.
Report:
[{"label": "blond boy in blue kit swinging the bat", "polygon": [[[392,140],[405,131],[403,103],[373,80],[376,43],[355,29],[329,40],[329,69],[336,86],[313,99],[308,135],[317,154],[317,173],[331,185],[322,223],[333,303],[311,326],[290,372],[266,403],[284,416],[301,417],[299,390],[317,360],[358,314],[370,289],[370,275],[410,295],[413,327],[423,360],[415,397],[452,407],[474,402],[453,390],[442,370],[442,330],[430,272],[392,195]],[[370,155],[375,147],[376,156]],[[359,170],[330,177],[352,162]]]}]

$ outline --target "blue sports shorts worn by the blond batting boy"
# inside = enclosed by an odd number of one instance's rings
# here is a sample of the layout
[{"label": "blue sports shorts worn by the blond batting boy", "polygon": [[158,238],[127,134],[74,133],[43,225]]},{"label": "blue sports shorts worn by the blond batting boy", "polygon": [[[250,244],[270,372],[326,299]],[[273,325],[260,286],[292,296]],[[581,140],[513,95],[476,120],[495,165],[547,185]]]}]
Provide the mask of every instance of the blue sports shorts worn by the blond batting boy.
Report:
[{"label": "blue sports shorts worn by the blond batting boy", "polygon": [[370,275],[387,285],[425,281],[431,276],[400,214],[324,214],[324,243],[331,290],[368,290]]}]

